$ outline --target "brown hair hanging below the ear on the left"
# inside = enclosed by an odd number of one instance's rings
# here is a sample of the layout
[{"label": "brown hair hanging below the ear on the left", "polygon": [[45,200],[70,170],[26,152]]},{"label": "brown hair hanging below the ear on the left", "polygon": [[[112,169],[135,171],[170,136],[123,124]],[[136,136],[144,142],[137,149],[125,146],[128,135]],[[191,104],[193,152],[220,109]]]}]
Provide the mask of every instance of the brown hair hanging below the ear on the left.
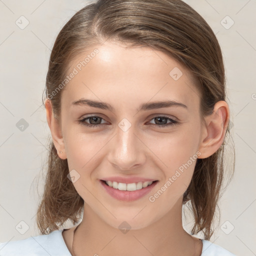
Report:
[{"label": "brown hair hanging below the ear on the left", "polygon": [[36,224],[41,234],[58,230],[59,225],[68,219],[73,224],[77,223],[83,209],[83,199],[67,178],[67,159],[58,157],[52,141],[49,148],[44,192],[36,215]]}]

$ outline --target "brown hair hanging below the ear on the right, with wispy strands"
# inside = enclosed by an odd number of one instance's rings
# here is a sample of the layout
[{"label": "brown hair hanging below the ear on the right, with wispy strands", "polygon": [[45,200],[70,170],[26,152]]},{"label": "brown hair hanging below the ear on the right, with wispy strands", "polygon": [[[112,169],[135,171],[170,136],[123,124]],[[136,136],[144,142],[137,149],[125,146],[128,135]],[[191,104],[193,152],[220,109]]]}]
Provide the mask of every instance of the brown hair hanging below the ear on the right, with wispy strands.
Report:
[{"label": "brown hair hanging below the ear on the right, with wispy strands", "polygon": [[[226,132],[229,134],[229,125]],[[225,143],[224,140],[218,150],[207,158],[196,159],[191,182],[183,195],[183,204],[186,203],[194,218],[191,234],[202,231],[206,240],[210,239],[215,230],[213,220],[216,219],[216,216],[218,216],[216,226],[219,225],[218,201],[231,181],[234,171],[234,161],[232,161],[232,164],[229,165],[229,167],[231,166],[229,175],[225,175],[228,174],[226,172],[228,166],[225,168],[223,162],[224,149],[227,149],[224,147]],[[235,156],[233,143],[230,147]],[[227,182],[224,185],[225,177]]]}]

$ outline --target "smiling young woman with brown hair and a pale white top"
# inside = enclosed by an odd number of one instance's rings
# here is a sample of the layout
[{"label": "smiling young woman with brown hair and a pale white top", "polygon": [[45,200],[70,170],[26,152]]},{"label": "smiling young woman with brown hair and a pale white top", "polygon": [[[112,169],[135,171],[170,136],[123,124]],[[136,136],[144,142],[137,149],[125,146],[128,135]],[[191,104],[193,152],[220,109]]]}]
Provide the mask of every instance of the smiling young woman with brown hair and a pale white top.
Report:
[{"label": "smiling young woman with brown hair and a pale white top", "polygon": [[[1,255],[234,255],[208,241],[229,108],[220,46],[194,9],[181,0],[85,6],[56,38],[45,95],[41,235],[2,243]],[[74,226],[61,228],[67,220]]]}]

